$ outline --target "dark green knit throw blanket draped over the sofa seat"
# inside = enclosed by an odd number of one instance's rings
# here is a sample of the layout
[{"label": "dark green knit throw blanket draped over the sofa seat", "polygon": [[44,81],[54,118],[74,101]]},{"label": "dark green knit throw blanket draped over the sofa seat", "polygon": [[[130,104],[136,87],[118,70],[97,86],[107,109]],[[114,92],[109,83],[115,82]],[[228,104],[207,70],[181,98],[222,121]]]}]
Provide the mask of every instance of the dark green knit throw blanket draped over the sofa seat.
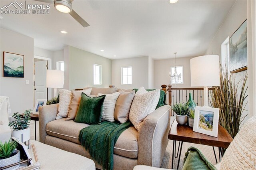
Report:
[{"label": "dark green knit throw blanket draped over the sofa seat", "polygon": [[100,125],[90,125],[80,131],[79,141],[104,170],[112,170],[114,145],[120,134],[130,125],[130,122],[120,124],[108,121]]}]

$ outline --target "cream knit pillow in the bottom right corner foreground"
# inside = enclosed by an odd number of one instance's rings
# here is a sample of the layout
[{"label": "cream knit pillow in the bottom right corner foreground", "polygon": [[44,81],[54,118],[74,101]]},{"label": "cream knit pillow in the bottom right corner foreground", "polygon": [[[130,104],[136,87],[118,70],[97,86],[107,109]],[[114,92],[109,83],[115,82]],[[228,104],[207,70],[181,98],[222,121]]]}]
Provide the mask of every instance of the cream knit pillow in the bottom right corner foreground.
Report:
[{"label": "cream knit pillow in the bottom right corner foreground", "polygon": [[222,158],[220,169],[256,169],[256,116],[248,119],[236,134]]}]

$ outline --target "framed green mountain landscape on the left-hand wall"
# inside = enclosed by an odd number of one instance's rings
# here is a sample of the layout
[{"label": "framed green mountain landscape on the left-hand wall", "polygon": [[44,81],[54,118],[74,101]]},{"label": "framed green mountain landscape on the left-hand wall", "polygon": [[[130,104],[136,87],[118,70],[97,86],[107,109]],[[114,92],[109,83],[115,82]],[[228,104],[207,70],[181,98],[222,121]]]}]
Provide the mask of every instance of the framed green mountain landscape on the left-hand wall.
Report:
[{"label": "framed green mountain landscape on the left-hand wall", "polygon": [[3,52],[3,77],[24,77],[24,55]]}]

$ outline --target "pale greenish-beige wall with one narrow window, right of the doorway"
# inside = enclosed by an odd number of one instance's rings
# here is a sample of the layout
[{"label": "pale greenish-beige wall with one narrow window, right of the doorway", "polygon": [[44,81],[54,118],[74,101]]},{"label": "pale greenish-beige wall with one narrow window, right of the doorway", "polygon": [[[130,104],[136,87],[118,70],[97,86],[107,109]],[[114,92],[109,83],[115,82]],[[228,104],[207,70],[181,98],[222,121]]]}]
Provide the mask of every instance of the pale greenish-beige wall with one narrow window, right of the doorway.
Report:
[{"label": "pale greenish-beige wall with one narrow window, right of the doorway", "polygon": [[[64,48],[64,62],[65,48]],[[66,72],[66,63],[65,72]],[[83,87],[108,87],[111,85],[111,60],[100,55],[69,46],[69,65],[67,89]],[[102,85],[93,84],[93,64],[102,65]],[[66,81],[66,76],[65,76]]]}]

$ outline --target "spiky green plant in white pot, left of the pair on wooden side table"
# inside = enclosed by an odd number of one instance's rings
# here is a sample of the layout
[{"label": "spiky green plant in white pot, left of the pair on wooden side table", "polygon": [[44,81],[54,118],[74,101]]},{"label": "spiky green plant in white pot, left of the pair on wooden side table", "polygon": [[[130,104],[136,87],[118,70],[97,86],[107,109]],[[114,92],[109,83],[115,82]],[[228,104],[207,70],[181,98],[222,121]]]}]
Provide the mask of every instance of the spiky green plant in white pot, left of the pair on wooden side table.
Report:
[{"label": "spiky green plant in white pot, left of the pair on wooden side table", "polygon": [[172,110],[176,113],[176,121],[180,125],[184,125],[188,121],[188,102],[187,103],[176,103],[172,105]]}]

